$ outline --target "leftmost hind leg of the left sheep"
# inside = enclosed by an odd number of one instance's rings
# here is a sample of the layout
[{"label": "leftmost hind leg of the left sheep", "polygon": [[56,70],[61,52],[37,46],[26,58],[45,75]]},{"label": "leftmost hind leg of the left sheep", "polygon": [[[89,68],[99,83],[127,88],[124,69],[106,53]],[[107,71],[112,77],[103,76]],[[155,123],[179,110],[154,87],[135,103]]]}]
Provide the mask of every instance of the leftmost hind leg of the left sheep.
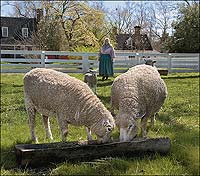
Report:
[{"label": "leftmost hind leg of the left sheep", "polygon": [[33,142],[38,143],[36,133],[35,133],[36,110],[34,108],[27,108],[27,113],[29,116],[29,127],[30,127],[31,139]]}]

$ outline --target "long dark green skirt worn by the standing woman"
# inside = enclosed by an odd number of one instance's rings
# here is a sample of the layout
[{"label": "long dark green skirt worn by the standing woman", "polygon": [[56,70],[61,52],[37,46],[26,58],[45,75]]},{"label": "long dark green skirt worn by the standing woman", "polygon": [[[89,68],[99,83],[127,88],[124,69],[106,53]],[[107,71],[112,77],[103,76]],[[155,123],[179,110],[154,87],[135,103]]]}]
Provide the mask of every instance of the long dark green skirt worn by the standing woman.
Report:
[{"label": "long dark green skirt worn by the standing woman", "polygon": [[110,54],[102,54],[99,59],[99,75],[113,76],[113,62]]}]

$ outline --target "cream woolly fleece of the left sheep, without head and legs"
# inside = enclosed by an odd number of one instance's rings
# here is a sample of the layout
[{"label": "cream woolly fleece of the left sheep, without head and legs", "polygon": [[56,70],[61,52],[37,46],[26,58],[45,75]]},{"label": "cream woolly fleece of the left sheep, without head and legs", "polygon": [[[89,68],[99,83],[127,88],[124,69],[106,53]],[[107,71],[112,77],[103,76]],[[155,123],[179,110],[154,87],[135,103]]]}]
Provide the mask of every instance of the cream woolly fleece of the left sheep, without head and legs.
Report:
[{"label": "cream woolly fleece of the left sheep, without head and legs", "polygon": [[[25,105],[69,124],[91,127],[102,119],[114,125],[111,113],[86,83],[51,69],[36,68],[24,76]],[[100,127],[99,127],[100,128]]]}]

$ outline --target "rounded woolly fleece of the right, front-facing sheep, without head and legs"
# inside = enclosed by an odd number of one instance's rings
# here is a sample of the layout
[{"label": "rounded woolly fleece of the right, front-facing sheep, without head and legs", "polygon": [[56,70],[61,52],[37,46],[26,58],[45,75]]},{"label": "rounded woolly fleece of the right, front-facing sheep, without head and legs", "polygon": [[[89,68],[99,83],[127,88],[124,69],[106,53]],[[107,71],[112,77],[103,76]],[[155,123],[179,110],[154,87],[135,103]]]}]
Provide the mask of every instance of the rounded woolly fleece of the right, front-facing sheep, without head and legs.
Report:
[{"label": "rounded woolly fleece of the right, front-facing sheep, without head and legs", "polygon": [[167,87],[156,68],[137,65],[118,76],[111,90],[111,106],[132,117],[155,114],[167,97]]}]

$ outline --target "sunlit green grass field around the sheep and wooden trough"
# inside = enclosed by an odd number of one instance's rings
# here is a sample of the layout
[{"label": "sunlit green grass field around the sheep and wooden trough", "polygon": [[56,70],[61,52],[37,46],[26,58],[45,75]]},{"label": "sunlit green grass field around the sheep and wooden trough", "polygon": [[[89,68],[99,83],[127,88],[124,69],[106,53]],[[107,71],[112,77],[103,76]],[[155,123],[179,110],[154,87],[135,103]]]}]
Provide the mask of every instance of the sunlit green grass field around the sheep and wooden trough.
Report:
[{"label": "sunlit green grass field around the sheep and wooden trough", "polygon": [[[83,80],[81,74],[71,74]],[[1,74],[1,175],[199,175],[199,73],[169,74],[163,77],[168,97],[149,137],[168,136],[172,147],[167,156],[102,158],[92,162],[56,164],[42,170],[16,167],[15,144],[29,143],[29,127],[23,99],[23,74]],[[97,93],[109,109],[114,78],[100,81]],[[39,142],[48,142],[37,115]],[[51,119],[53,142],[61,140],[58,124]],[[70,126],[68,140],[85,140],[83,127]],[[84,135],[83,135],[84,134]],[[113,133],[118,137],[117,129]]]}]

